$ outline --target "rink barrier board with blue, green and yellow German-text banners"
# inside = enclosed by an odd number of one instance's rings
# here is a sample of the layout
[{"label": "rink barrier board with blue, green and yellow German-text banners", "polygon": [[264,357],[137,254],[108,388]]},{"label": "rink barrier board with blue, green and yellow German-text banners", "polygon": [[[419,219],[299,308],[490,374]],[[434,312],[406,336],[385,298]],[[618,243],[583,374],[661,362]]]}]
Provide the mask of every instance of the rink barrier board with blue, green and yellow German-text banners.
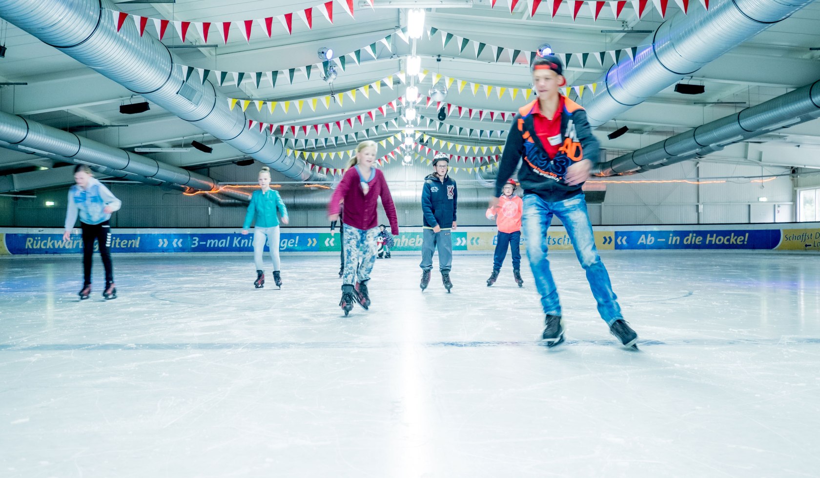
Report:
[{"label": "rink barrier board with blue, green and yellow German-text banners", "polygon": [[[820,223],[775,225],[597,226],[600,250],[787,250],[820,251]],[[492,251],[494,227],[460,227],[452,233],[453,251]],[[421,251],[422,229],[403,228],[394,236],[394,251]],[[0,228],[0,256],[77,254],[79,230],[62,240],[60,229]],[[339,232],[283,228],[279,249],[287,252],[338,252]],[[551,226],[546,237],[551,250],[571,250],[566,230]],[[522,235],[522,248],[524,246]],[[96,248],[96,246],[95,246]],[[233,229],[113,229],[113,253],[246,253],[253,251],[253,234]],[[267,247],[266,247],[267,250]]]}]

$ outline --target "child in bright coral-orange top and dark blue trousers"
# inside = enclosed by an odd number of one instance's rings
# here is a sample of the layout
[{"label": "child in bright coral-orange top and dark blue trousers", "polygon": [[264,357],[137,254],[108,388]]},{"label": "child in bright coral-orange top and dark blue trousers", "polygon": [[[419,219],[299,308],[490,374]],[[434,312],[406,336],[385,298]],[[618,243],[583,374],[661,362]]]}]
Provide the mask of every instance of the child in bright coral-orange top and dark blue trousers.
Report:
[{"label": "child in bright coral-orange top and dark blue trousers", "polygon": [[509,180],[504,184],[499,204],[496,207],[487,209],[487,219],[495,219],[499,226],[499,234],[496,236],[495,254],[493,258],[493,273],[487,279],[487,287],[495,284],[499,278],[501,265],[507,257],[507,248],[512,249],[512,276],[515,278],[518,287],[524,285],[521,278],[521,213],[523,203],[521,198],[514,195],[515,180]]}]

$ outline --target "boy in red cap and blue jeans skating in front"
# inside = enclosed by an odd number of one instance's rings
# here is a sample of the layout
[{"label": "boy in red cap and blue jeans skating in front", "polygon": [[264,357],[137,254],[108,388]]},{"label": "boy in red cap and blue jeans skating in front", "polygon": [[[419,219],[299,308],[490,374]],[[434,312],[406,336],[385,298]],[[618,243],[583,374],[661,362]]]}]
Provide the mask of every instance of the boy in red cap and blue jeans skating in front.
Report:
[{"label": "boy in red cap and blue jeans skating in front", "polygon": [[561,303],[549,271],[545,240],[553,216],[558,216],[567,229],[609,331],[625,347],[635,347],[638,335],[623,320],[609,274],[595,248],[581,191],[581,185],[590,178],[592,162],[597,161],[598,140],[592,135],[584,109],[558,93],[558,88],[567,83],[562,74],[563,64],[558,57],[546,55],[533,61],[532,80],[538,98],[521,107],[513,120],[490,207],[498,203],[503,185],[519,160],[523,160],[518,171],[518,181],[524,190],[522,229],[526,256],[545,314],[541,336],[550,347],[564,340]]}]

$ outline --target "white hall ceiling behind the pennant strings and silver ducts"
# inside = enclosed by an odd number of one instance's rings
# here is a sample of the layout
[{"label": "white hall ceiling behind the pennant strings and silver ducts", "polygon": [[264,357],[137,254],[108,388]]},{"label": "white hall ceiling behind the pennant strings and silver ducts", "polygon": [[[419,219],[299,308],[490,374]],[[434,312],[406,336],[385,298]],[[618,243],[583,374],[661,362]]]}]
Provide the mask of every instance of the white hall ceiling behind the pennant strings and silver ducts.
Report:
[{"label": "white hall ceiling behind the pennant strings and silver ducts", "polygon": [[[385,3],[388,0],[375,0]],[[717,0],[713,0],[716,2]],[[638,20],[635,11],[628,3],[619,20],[613,12],[604,7],[599,19],[594,21],[590,9],[583,7],[576,20],[572,20],[569,3],[564,2],[558,15],[552,18],[548,13],[552,2],[543,2],[538,13],[532,18],[529,15],[530,2],[518,2],[510,12],[508,0],[499,0],[494,8],[491,0],[474,0],[471,8],[432,8],[426,14],[426,27],[475,40],[488,45],[503,48],[515,48],[524,51],[535,50],[541,43],[550,43],[556,52],[599,52],[617,48],[631,48],[645,43],[645,34],[604,34],[600,30],[655,30],[663,19],[649,2],[649,11],[643,19]],[[218,45],[216,48],[174,48],[171,49],[175,61],[182,65],[205,68],[212,71],[282,71],[298,68],[318,62],[317,49],[334,48],[337,56],[353,52],[359,48],[378,42],[388,34],[406,25],[405,12],[396,8],[362,7],[363,0],[355,0],[354,16],[348,15],[335,0],[334,22],[330,24],[317,9],[314,9],[313,25],[309,30],[297,15],[293,17],[293,33],[288,34],[279,20],[274,19],[273,34],[267,39],[259,25],[253,25],[253,34],[246,42],[236,27],[230,30],[227,44],[223,44],[216,27],[210,30],[208,43]],[[276,6],[273,6],[276,4]],[[293,0],[271,2],[270,0],[247,0],[225,2],[224,0],[176,0],[175,3],[129,3],[120,2],[121,11],[140,16],[150,16],[171,20],[212,21],[256,19],[266,16],[280,16],[288,12],[299,11],[307,7],[321,6],[317,0],[295,2]],[[691,2],[690,10],[703,8],[699,2]],[[679,12],[675,2],[669,2],[667,18]],[[0,9],[2,17],[2,9]],[[127,21],[131,21],[130,19]],[[0,29],[2,31],[2,29]],[[53,127],[71,130],[76,134],[87,135],[91,139],[118,148],[134,147],[171,147],[181,146],[197,139],[214,147],[212,154],[192,150],[189,153],[157,153],[158,160],[175,166],[196,168],[209,164],[230,162],[245,157],[243,153],[216,139],[203,135],[194,125],[182,121],[166,112],[162,107],[151,104],[151,110],[138,115],[122,115],[119,107],[124,102],[139,102],[142,98],[131,98],[131,93],[124,87],[99,75],[90,68],[66,56],[30,34],[7,25],[5,43],[7,53],[0,58],[0,82],[25,82],[22,86],[0,87],[0,110],[30,118]],[[149,22],[146,33],[155,35],[153,23]],[[202,44],[192,26],[189,30],[189,44]],[[193,39],[193,41],[191,41]],[[2,41],[2,38],[0,38]],[[169,26],[163,43],[179,45],[180,39],[174,27]],[[768,30],[753,39],[738,45],[736,48],[717,58],[685,80],[695,84],[704,84],[706,93],[696,96],[675,93],[672,87],[655,94],[646,102],[632,107],[618,115],[613,121],[602,125],[597,135],[604,148],[631,151],[662,140],[672,134],[713,121],[722,116],[740,111],[775,98],[791,89],[820,80],[820,52],[809,48],[820,47],[820,6],[809,4],[797,11],[790,18],[772,25]],[[344,71],[339,69],[339,77],[333,84],[334,92],[344,92],[382,80],[389,75],[403,70],[403,57],[410,51],[410,45],[398,35],[391,39],[391,49],[383,43],[376,45],[376,57],[362,54],[362,62],[357,65],[348,57]],[[422,68],[430,71],[420,85],[426,94],[430,89],[432,74],[441,74],[458,80],[467,80],[480,84],[491,84],[508,89],[526,89],[530,84],[527,66],[528,58],[519,57],[517,64],[511,65],[507,52],[499,62],[491,57],[488,47],[476,60],[473,44],[463,52],[458,51],[456,39],[447,48],[442,48],[442,34],[428,38],[425,34],[417,43],[417,52],[422,57]],[[625,53],[624,53],[625,54]],[[440,55],[440,61],[437,57]],[[566,75],[569,84],[590,84],[613,64],[613,58],[607,55],[604,65],[591,57],[585,66],[580,59],[573,57],[567,66]],[[198,75],[194,72],[194,75]],[[216,80],[212,76],[212,83]],[[361,92],[356,102],[348,97],[344,104],[331,104],[330,109],[324,106],[312,111],[307,105],[302,112],[295,107],[285,113],[280,107],[275,112],[263,108],[261,112],[253,105],[248,107],[246,115],[254,121],[264,121],[275,125],[313,125],[342,121],[375,107],[394,101],[403,94],[405,86],[395,78],[394,89],[382,87],[380,93],[371,89],[370,98],[364,98]],[[486,109],[498,112],[512,112],[525,102],[522,95],[512,100],[509,94],[498,98],[491,93],[487,98],[483,92],[476,95],[468,93],[465,88],[458,93],[457,84],[453,84],[446,102],[466,108]],[[300,98],[324,97],[331,90],[321,80],[314,69],[311,79],[305,79],[301,72],[296,73],[293,84],[289,84],[286,75],[280,75],[276,86],[271,88],[266,79],[256,88],[250,78],[246,78],[239,88],[233,84],[229,75],[223,86],[216,87],[218,93],[226,98],[287,101]],[[572,93],[575,95],[575,93]],[[585,93],[585,99],[590,98]],[[714,102],[739,102],[739,104],[716,105]],[[704,104],[706,103],[706,104]],[[422,107],[421,115],[435,118],[435,103],[429,108]],[[388,117],[398,116],[389,112]],[[376,123],[385,121],[379,118]],[[434,124],[437,121],[434,121]],[[450,116],[444,121],[446,125],[462,126],[474,130],[507,130],[508,123],[496,118],[480,121],[477,117],[470,120]],[[127,127],[98,126],[127,125]],[[373,123],[366,121],[364,130]],[[628,125],[630,133],[619,139],[608,140],[606,134],[617,126]],[[820,143],[820,122],[811,121],[797,125],[777,134],[768,134],[762,139],[772,143]],[[88,127],[92,128],[88,128]],[[97,127],[95,127],[97,126]],[[347,130],[349,131],[349,130]],[[453,131],[426,131],[436,138],[477,146],[491,146],[503,143],[503,139],[494,136],[477,139],[475,135],[467,138],[465,130],[462,137]],[[278,133],[278,132],[277,132]],[[388,134],[380,131],[378,139]],[[337,130],[328,134],[321,130],[319,134],[311,130],[307,138],[327,138],[338,136]],[[300,136],[303,137],[303,136]],[[387,144],[385,151],[392,149]],[[306,149],[310,150],[309,144]],[[347,150],[346,145],[317,147],[317,151]],[[742,156],[742,155],[740,155]],[[738,161],[749,160],[738,157]],[[751,160],[749,160],[751,161]],[[26,166],[48,166],[49,161],[32,155],[21,155],[0,149],[0,175],[21,171]],[[337,157],[335,167],[343,167],[344,162]],[[820,165],[820,161],[818,161]],[[333,167],[333,164],[326,164]],[[401,167],[399,162],[385,167]]]}]

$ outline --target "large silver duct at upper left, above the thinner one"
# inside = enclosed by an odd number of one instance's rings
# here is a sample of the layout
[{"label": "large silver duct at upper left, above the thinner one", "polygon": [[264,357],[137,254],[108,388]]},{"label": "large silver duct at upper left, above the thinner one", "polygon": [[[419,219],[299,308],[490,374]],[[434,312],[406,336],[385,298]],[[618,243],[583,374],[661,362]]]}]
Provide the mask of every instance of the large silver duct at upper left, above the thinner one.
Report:
[{"label": "large silver duct at upper left, above the thinner one", "polygon": [[[230,110],[210,82],[186,81],[171,52],[134,22],[116,31],[110,0],[0,0],[0,16],[134,93],[296,180],[322,180],[280,141],[248,130],[241,108]],[[197,76],[194,74],[194,76]],[[116,168],[120,169],[120,168]],[[147,171],[144,171],[147,172]]]}]

